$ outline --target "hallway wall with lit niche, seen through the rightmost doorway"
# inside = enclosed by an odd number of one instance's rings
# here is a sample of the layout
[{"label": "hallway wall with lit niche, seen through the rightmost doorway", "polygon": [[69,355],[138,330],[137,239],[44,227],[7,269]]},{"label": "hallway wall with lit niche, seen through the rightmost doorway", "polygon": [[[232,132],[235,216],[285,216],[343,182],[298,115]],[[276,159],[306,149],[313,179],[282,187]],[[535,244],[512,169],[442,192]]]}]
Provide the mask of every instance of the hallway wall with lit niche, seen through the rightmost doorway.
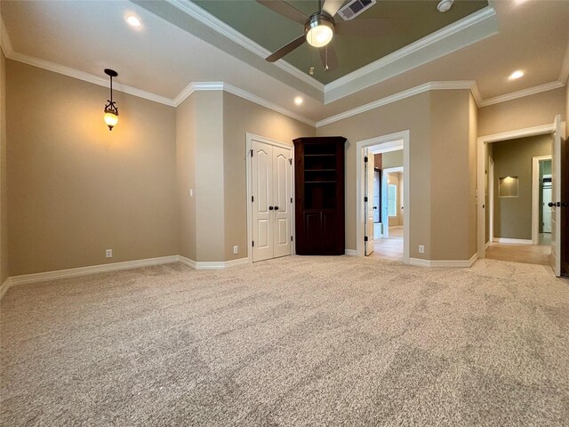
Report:
[{"label": "hallway wall with lit niche, seen through the rightmost doorway", "polygon": [[[551,154],[551,135],[494,142],[494,237],[532,238],[532,157]],[[499,197],[498,182],[517,176],[518,197]]]}]

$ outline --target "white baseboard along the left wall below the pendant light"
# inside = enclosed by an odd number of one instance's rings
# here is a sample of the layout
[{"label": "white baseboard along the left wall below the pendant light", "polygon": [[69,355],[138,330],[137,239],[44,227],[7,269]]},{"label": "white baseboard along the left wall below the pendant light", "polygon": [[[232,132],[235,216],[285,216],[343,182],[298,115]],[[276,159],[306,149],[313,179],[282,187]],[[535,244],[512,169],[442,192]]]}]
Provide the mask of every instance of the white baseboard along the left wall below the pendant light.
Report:
[{"label": "white baseboard along the left wall below the pendant light", "polygon": [[10,278],[10,287],[26,285],[28,283],[44,282],[58,278],[75,278],[77,276],[87,276],[90,274],[106,273],[108,271],[131,270],[151,265],[168,264],[178,262],[178,255],[161,256],[159,258],[148,258],[146,260],[135,260],[125,262],[113,262],[110,264],[90,265],[76,269],[45,271],[43,273],[23,274]]}]

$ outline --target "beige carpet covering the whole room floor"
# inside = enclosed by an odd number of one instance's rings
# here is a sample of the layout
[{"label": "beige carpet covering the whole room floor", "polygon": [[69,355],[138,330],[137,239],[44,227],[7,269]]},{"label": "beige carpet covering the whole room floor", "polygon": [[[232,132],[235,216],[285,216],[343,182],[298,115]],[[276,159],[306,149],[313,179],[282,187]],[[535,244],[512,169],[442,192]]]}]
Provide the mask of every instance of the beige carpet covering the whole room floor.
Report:
[{"label": "beige carpet covering the whole room floor", "polygon": [[12,287],[0,424],[569,425],[569,282],[291,256]]}]

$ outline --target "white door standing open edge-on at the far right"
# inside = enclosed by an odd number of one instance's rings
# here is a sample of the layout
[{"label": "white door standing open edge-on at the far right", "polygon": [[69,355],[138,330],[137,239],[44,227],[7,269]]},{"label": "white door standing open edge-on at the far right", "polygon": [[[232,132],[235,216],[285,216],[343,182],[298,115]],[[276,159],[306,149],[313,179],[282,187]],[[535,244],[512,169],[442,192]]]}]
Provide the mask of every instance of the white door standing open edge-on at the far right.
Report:
[{"label": "white door standing open edge-on at the far right", "polygon": [[561,116],[557,115],[553,122],[555,133],[551,147],[551,267],[557,277],[561,276]]}]

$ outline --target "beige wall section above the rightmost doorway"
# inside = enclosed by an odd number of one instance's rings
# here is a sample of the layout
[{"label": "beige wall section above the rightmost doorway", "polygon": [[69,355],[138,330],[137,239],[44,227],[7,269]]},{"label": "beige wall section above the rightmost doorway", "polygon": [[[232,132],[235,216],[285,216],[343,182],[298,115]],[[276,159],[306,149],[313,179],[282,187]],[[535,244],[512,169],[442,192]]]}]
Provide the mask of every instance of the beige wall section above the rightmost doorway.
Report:
[{"label": "beige wall section above the rightmost doorway", "polygon": [[478,136],[493,135],[553,123],[565,117],[565,88],[536,93],[478,110]]}]

